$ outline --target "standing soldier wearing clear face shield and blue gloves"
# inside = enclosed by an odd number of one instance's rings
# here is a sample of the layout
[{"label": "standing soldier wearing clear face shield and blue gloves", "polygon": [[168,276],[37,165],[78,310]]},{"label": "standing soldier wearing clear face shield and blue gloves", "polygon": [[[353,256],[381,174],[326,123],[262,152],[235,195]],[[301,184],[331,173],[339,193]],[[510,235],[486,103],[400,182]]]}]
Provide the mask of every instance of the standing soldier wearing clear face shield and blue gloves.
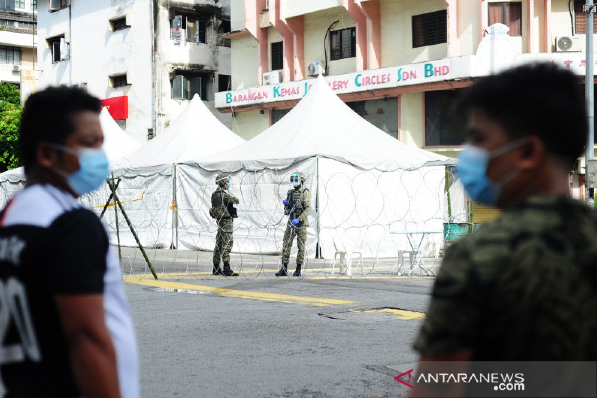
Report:
[{"label": "standing soldier wearing clear face shield and blue gloves", "polygon": [[276,272],[276,276],[287,275],[288,258],[290,249],[293,246],[294,237],[297,237],[297,267],[293,276],[300,276],[304,261],[304,248],[307,243],[307,227],[309,226],[309,214],[311,214],[311,193],[303,187],[306,178],[303,172],[299,171],[290,175],[293,189],[288,190],[286,199],[282,200],[284,214],[288,215],[288,223],[284,232],[282,243],[282,267]]}]

